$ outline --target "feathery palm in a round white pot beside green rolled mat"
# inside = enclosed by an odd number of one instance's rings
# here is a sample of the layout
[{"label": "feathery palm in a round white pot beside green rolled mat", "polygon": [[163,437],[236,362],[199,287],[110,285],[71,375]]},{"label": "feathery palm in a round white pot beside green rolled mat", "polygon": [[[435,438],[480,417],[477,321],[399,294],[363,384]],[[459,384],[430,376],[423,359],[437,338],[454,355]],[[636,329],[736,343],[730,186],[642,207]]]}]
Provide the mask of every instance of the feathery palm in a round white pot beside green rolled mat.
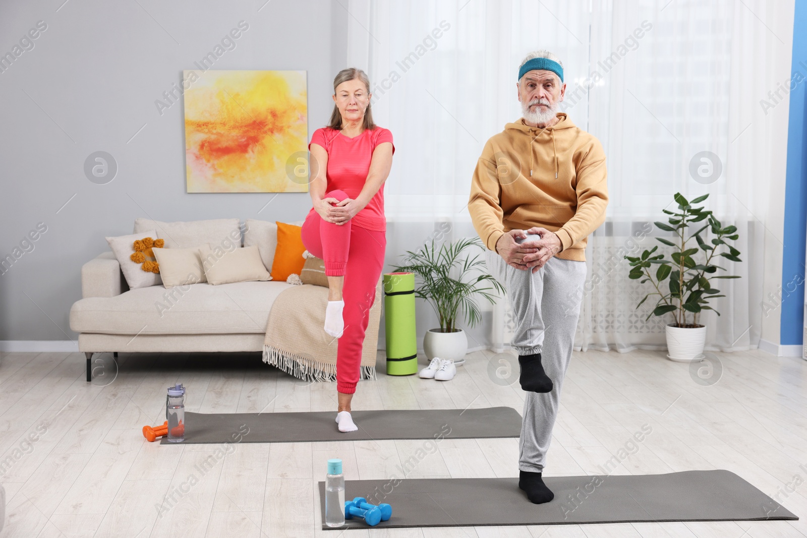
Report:
[{"label": "feathery palm in a round white pot beside green rolled mat", "polygon": [[[466,248],[485,246],[478,237],[464,238],[454,243],[445,242],[435,250],[434,240],[426,243],[416,252],[407,251],[404,261],[407,265],[396,267],[395,272],[414,273],[416,279],[415,297],[429,302],[440,320],[440,327],[429,329],[423,339],[423,351],[431,361],[433,357],[451,359],[455,365],[465,362],[468,351],[468,339],[462,329],[458,328],[457,315],[462,308],[466,323],[473,327],[482,319],[475,295],[482,295],[488,301],[495,302],[495,296],[488,290],[495,289],[504,294],[504,286],[487,271],[477,276],[470,276],[474,269],[485,265],[479,256],[462,256]],[[403,255],[402,255],[403,256]],[[459,278],[453,278],[453,269]],[[467,280],[467,282],[466,282]],[[493,284],[493,288],[486,286]],[[484,286],[484,287],[483,287]]]}]

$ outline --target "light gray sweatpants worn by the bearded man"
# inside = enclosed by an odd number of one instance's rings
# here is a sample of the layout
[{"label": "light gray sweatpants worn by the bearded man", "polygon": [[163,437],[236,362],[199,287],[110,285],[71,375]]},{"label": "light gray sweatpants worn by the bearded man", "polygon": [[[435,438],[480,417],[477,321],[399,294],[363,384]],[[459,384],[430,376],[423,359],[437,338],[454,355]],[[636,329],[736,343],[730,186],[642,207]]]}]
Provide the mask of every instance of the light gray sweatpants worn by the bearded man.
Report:
[{"label": "light gray sweatpants worn by the bearded man", "polygon": [[514,320],[512,348],[519,355],[541,353],[541,365],[552,380],[551,392],[527,391],[519,439],[518,468],[540,473],[558,415],[563,377],[580,315],[586,262],[551,257],[536,273],[504,262],[486,251],[487,269],[507,290]]}]

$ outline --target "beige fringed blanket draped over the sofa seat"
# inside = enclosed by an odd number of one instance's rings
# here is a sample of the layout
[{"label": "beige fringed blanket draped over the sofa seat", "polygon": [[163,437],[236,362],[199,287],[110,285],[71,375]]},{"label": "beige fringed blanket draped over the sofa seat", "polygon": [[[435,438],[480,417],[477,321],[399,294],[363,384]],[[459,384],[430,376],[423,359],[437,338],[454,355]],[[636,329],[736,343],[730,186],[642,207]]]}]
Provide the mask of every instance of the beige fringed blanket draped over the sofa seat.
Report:
[{"label": "beige fringed blanket draped over the sofa seat", "polygon": [[[378,277],[362,346],[362,379],[375,379],[383,298],[382,277]],[[327,305],[328,288],[323,286],[291,286],[278,294],[266,323],[263,361],[304,381],[336,381],[339,340],[324,331]]]}]

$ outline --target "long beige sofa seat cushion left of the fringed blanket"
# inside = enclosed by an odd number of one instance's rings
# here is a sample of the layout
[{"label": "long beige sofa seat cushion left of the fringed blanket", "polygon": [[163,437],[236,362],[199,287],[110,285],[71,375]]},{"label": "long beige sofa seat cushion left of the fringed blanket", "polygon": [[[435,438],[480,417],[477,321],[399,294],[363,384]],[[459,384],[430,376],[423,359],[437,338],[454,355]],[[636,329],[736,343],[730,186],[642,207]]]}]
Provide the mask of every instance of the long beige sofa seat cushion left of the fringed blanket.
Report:
[{"label": "long beige sofa seat cushion left of the fringed blanket", "polygon": [[115,297],[83,298],[70,309],[70,328],[126,335],[262,334],[274,299],[290,286],[274,281],[193,284],[170,290],[149,286]]}]

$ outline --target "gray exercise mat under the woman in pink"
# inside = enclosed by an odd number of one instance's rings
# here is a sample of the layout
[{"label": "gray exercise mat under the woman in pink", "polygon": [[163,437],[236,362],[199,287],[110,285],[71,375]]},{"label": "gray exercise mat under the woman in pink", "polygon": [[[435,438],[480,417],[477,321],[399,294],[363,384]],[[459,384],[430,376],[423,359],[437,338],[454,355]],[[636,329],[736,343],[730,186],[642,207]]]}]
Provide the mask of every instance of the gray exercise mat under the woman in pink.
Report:
[{"label": "gray exercise mat under the woman in pink", "polygon": [[[198,443],[295,443],[382,439],[518,437],[512,407],[353,411],[356,432],[337,429],[336,411],[306,413],[185,413],[185,440]],[[161,444],[168,443],[163,437]]]}]

